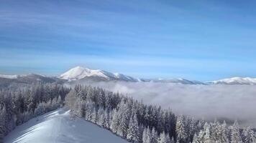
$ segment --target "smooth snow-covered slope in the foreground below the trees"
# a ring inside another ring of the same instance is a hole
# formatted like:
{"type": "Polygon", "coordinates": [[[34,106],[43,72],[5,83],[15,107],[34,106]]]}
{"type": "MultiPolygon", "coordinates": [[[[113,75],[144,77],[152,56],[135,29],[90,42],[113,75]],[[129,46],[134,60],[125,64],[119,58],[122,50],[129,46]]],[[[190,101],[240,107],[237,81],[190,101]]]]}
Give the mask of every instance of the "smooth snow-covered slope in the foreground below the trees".
{"type": "Polygon", "coordinates": [[[10,132],[4,138],[4,142],[127,143],[96,124],[83,119],[72,119],[69,111],[65,109],[58,109],[29,120],[10,132]]]}

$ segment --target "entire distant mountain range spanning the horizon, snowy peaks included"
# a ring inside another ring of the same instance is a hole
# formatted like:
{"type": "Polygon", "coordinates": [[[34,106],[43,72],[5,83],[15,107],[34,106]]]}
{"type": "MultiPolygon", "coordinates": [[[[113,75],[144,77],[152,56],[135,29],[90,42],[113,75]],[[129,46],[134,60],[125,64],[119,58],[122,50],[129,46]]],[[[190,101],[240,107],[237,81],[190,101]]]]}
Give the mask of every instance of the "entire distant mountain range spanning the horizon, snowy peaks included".
{"type": "Polygon", "coordinates": [[[124,74],[111,73],[100,69],[88,69],[82,66],[76,66],[73,69],[60,74],[58,77],[46,77],[39,74],[24,74],[24,75],[4,75],[0,74],[0,87],[9,87],[15,84],[32,84],[35,82],[45,83],[65,83],[65,82],[109,82],[109,81],[123,81],[123,82],[163,82],[175,84],[242,84],[242,85],[256,85],[256,79],[250,77],[232,77],[229,79],[220,79],[211,82],[199,82],[188,79],[137,79],[129,77],[124,74]]]}

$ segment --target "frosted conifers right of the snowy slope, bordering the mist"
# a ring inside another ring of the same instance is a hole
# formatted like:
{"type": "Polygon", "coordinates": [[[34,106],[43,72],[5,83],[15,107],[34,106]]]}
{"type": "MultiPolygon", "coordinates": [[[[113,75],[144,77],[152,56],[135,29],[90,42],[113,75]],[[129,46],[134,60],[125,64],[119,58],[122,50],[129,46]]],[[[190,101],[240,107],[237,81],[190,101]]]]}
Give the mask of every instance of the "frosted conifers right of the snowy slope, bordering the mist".
{"type": "Polygon", "coordinates": [[[205,122],[170,109],[146,105],[131,97],[96,87],[77,85],[66,96],[71,113],[109,129],[135,143],[255,143],[250,127],[240,129],[237,122],[205,122]]]}

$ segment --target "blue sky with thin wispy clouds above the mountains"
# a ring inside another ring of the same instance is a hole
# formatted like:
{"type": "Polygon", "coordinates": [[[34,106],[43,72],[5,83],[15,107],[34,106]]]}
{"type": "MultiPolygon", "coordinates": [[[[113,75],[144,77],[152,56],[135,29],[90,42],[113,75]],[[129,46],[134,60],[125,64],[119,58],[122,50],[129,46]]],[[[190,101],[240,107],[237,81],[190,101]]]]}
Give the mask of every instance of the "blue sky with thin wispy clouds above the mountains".
{"type": "Polygon", "coordinates": [[[256,3],[0,0],[0,73],[256,77],[256,3]]]}

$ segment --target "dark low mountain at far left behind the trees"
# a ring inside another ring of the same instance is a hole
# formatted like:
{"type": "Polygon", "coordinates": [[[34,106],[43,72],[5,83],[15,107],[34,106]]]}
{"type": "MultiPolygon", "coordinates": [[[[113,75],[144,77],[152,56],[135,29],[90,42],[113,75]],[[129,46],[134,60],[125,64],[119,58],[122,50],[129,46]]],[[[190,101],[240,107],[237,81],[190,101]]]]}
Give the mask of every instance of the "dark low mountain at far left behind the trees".
{"type": "Polygon", "coordinates": [[[0,74],[0,88],[3,87],[23,87],[27,84],[35,83],[64,83],[63,79],[56,77],[45,77],[39,74],[5,75],[0,74]]]}

